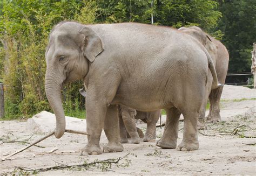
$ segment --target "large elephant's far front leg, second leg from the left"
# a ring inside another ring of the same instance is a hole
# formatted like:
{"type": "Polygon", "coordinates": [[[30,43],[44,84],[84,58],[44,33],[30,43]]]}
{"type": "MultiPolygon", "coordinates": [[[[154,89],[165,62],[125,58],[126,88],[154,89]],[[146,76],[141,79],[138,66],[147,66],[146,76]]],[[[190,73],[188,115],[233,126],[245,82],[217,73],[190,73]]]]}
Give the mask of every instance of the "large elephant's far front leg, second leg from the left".
{"type": "Polygon", "coordinates": [[[104,132],[109,143],[103,147],[103,152],[122,152],[124,151],[123,145],[120,143],[119,137],[119,124],[117,105],[110,105],[107,107],[106,118],[104,122],[104,132]]]}

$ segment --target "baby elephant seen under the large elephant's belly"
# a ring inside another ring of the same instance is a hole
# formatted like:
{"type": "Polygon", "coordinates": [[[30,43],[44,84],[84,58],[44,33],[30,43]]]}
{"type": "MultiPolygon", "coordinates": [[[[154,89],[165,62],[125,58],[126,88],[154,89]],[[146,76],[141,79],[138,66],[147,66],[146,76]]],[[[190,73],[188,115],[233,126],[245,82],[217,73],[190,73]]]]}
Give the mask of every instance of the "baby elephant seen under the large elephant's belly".
{"type": "Polygon", "coordinates": [[[161,110],[152,112],[136,111],[126,105],[118,105],[119,116],[119,130],[121,143],[127,143],[127,133],[131,137],[131,143],[138,144],[140,137],[137,132],[136,123],[134,119],[141,119],[147,123],[147,130],[144,135],[143,141],[150,142],[157,138],[156,135],[156,123],[161,115],[161,110]],[[126,132],[127,131],[127,132],[126,132]]]}

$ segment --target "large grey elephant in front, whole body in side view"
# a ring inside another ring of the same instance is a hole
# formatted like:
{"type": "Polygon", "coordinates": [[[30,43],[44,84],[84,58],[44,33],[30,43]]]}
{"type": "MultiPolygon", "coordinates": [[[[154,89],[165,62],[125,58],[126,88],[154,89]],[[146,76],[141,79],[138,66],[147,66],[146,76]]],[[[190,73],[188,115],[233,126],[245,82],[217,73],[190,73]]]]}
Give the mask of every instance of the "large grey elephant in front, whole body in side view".
{"type": "Polygon", "coordinates": [[[102,129],[109,140],[103,152],[124,150],[116,104],[140,111],[165,109],[164,134],[157,143],[164,149],[176,148],[183,113],[178,150],[198,149],[197,119],[208,68],[213,86],[218,87],[218,80],[210,55],[196,39],[168,27],[138,23],[62,22],[51,31],[45,56],[45,91],[56,115],[56,138],[65,132],[62,86],[82,79],[87,88],[88,133],[83,151],[102,153],[102,129]]]}

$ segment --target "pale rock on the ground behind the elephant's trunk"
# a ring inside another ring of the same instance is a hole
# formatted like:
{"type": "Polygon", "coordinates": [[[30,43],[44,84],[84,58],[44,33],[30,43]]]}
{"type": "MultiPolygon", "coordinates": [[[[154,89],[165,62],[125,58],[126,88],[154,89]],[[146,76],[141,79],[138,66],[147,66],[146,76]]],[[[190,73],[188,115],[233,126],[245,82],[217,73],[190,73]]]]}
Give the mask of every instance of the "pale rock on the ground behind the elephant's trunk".
{"type": "MultiPolygon", "coordinates": [[[[86,120],[66,116],[66,129],[86,131],[86,120]]],[[[35,133],[52,132],[56,128],[55,115],[51,112],[42,111],[29,118],[26,129],[35,133]]]]}

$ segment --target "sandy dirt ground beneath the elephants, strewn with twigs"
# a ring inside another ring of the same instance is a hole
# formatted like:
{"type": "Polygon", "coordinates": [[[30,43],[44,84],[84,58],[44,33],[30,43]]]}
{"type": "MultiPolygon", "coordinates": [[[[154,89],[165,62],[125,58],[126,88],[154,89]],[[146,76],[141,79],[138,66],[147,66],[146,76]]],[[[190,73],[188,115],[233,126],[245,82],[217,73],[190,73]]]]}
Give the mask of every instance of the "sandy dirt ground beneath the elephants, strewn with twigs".
{"type": "MultiPolygon", "coordinates": [[[[50,137],[32,146],[9,160],[0,161],[0,173],[24,173],[15,167],[32,169],[57,165],[78,165],[97,160],[122,158],[118,164],[94,164],[85,167],[72,167],[65,170],[50,170],[39,175],[169,175],[169,174],[248,174],[256,173],[256,90],[243,87],[225,86],[221,100],[219,123],[208,123],[205,131],[199,131],[199,150],[181,152],[176,149],[160,149],[156,142],[124,144],[124,151],[103,153],[98,156],[79,156],[79,150],[86,143],[84,135],[65,133],[60,139],[50,137]],[[254,98],[254,99],[253,99],[254,98]],[[208,136],[206,136],[208,135],[208,136]],[[252,145],[254,144],[254,145],[252,145]],[[58,150],[49,153],[53,148],[58,150]],[[129,154],[130,153],[130,154],[129,154]],[[107,170],[107,171],[106,171],[107,170]]],[[[137,124],[145,131],[144,123],[137,124]]],[[[183,122],[180,122],[178,143],[183,135],[183,122]]],[[[25,143],[3,143],[19,140],[31,143],[45,134],[26,131],[26,122],[0,121],[0,158],[6,152],[14,152],[28,145],[25,143]]],[[[157,137],[164,129],[157,128],[157,137]]],[[[100,145],[107,143],[105,135],[100,145]]],[[[114,161],[114,160],[112,160],[114,161]]],[[[30,172],[32,173],[32,172],[30,172]]]]}

